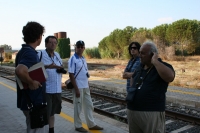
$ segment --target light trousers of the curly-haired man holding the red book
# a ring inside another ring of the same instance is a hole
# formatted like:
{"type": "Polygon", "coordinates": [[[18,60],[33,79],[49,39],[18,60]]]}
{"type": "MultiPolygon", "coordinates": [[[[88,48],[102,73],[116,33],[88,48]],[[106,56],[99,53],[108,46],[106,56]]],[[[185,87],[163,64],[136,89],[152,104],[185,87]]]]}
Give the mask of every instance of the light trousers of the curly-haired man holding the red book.
{"type": "Polygon", "coordinates": [[[23,111],[23,113],[26,117],[26,125],[27,125],[26,133],[48,133],[49,132],[49,125],[45,125],[42,128],[31,129],[29,111],[23,111]]]}

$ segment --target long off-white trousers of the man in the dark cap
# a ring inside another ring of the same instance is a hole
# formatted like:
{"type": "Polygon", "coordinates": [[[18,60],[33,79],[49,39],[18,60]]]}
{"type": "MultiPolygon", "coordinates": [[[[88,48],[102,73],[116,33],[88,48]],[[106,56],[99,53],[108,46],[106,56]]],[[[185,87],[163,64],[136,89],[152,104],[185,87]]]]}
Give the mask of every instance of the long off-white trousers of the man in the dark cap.
{"type": "Polygon", "coordinates": [[[80,117],[82,106],[83,106],[85,120],[86,120],[88,128],[96,126],[96,123],[94,122],[94,118],[92,114],[94,107],[93,107],[92,99],[90,96],[90,89],[89,88],[79,89],[79,92],[80,92],[80,97],[77,98],[76,92],[73,89],[74,126],[75,128],[82,127],[82,122],[81,122],[81,117],[80,117]]]}

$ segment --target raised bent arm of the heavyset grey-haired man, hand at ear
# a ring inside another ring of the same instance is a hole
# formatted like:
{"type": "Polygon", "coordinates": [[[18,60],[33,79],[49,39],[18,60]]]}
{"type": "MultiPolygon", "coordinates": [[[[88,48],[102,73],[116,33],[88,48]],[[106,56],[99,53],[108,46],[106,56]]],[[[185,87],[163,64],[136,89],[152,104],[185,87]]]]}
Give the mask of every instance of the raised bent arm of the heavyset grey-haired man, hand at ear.
{"type": "Polygon", "coordinates": [[[151,63],[155,66],[158,74],[165,82],[172,82],[174,80],[175,72],[165,64],[158,61],[158,54],[154,53],[151,63]]]}

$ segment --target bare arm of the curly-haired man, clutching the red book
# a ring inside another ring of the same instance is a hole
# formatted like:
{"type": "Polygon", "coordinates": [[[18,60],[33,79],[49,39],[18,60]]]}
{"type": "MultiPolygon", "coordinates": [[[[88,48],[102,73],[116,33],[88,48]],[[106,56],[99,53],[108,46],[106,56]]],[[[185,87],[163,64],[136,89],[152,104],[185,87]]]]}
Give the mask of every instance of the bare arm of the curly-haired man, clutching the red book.
{"type": "Polygon", "coordinates": [[[36,90],[42,85],[35,80],[32,80],[28,74],[28,68],[25,65],[19,64],[15,69],[15,74],[24,83],[28,84],[29,89],[36,90]]]}

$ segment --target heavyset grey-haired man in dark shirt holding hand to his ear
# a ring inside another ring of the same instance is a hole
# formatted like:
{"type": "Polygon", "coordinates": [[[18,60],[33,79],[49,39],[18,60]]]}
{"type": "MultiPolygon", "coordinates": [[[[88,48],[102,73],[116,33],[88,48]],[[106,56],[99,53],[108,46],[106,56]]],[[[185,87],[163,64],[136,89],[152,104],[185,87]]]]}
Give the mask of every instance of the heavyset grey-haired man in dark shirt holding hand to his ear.
{"type": "Polygon", "coordinates": [[[158,58],[153,42],[140,48],[141,66],[133,74],[132,100],[127,102],[130,133],[165,132],[165,93],[175,78],[173,67],[158,58]]]}

